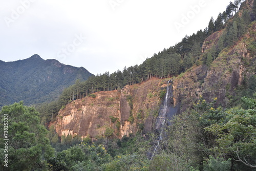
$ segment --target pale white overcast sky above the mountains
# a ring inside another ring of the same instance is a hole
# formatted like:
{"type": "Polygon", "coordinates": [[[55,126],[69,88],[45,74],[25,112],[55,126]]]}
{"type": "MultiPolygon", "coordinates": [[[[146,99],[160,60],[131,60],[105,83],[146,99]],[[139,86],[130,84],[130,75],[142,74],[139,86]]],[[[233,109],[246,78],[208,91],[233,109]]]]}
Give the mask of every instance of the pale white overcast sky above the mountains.
{"type": "Polygon", "coordinates": [[[140,65],[208,26],[230,0],[1,0],[0,60],[34,54],[92,74],[140,65]]]}

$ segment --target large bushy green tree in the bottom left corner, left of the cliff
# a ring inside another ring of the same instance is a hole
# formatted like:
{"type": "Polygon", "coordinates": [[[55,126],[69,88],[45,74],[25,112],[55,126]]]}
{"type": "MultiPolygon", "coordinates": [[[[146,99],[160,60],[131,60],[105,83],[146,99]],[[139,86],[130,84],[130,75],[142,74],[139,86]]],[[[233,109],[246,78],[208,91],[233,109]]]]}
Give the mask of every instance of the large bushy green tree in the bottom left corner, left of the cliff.
{"type": "MultiPolygon", "coordinates": [[[[46,138],[48,131],[40,124],[39,113],[23,102],[4,106],[1,115],[8,114],[8,162],[10,170],[46,169],[46,160],[53,156],[53,148],[46,138]]],[[[4,123],[4,117],[2,117],[4,123]]],[[[6,123],[6,122],[5,122],[6,123]]],[[[4,124],[1,124],[4,130],[4,124]]],[[[3,138],[1,138],[3,142],[3,138]]],[[[3,143],[0,146],[3,149],[3,143]]],[[[4,150],[0,151],[4,156],[4,150]]],[[[1,168],[4,166],[1,165],[1,168]]]]}

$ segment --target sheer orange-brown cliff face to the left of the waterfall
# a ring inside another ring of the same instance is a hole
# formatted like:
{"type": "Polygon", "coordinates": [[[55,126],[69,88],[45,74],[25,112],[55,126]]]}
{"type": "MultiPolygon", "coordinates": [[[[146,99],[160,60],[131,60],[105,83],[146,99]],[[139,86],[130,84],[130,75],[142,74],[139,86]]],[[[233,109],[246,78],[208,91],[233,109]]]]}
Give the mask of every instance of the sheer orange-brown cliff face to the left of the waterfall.
{"type": "Polygon", "coordinates": [[[75,100],[60,110],[54,123],[56,132],[59,136],[92,138],[106,136],[106,129],[113,130],[111,137],[118,138],[137,131],[150,132],[165,87],[165,80],[152,79],[122,90],[98,92],[95,98],[75,100]]]}

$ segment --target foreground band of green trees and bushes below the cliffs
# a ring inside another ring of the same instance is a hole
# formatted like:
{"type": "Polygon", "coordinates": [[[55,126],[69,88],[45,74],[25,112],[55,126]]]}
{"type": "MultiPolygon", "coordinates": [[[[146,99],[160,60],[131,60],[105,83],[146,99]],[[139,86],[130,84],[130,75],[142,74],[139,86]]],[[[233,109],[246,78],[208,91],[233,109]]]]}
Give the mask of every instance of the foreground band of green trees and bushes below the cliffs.
{"type": "MultiPolygon", "coordinates": [[[[40,125],[34,108],[14,103],[1,112],[11,118],[10,164],[5,170],[255,170],[253,96],[242,98],[243,108],[231,109],[216,108],[216,98],[206,102],[200,97],[193,110],[176,115],[166,127],[161,150],[154,158],[152,147],[157,142],[153,133],[147,138],[137,132],[110,139],[106,131],[97,140],[63,136],[59,142],[53,126],[48,132],[40,125]]],[[[0,153],[3,156],[3,143],[0,153]]]]}

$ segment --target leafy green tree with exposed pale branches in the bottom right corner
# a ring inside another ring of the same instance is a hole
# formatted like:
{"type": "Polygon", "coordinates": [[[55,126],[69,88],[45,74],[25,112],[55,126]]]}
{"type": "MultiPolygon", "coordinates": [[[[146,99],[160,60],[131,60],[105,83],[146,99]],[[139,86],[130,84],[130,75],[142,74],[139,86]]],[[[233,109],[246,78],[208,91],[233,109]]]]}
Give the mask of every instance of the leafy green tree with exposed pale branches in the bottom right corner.
{"type": "Polygon", "coordinates": [[[229,121],[225,124],[212,124],[206,127],[206,131],[217,136],[218,153],[231,154],[235,161],[246,166],[256,167],[256,110],[229,111],[229,121]]]}

